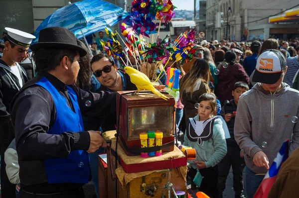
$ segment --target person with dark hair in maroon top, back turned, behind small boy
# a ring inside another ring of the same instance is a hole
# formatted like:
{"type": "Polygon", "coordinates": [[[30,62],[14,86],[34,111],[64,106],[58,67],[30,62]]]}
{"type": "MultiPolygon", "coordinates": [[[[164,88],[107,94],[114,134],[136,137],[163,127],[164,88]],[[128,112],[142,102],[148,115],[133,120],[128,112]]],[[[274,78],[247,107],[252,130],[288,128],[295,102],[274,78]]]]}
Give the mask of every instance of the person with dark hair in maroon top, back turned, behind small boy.
{"type": "Polygon", "coordinates": [[[224,104],[225,100],[233,99],[232,91],[234,89],[235,83],[238,81],[244,81],[249,84],[249,77],[243,66],[239,63],[236,63],[236,53],[233,51],[227,51],[224,58],[228,66],[222,66],[219,68],[219,84],[217,90],[215,91],[215,94],[222,105],[224,104]]]}

